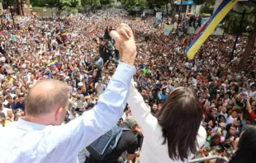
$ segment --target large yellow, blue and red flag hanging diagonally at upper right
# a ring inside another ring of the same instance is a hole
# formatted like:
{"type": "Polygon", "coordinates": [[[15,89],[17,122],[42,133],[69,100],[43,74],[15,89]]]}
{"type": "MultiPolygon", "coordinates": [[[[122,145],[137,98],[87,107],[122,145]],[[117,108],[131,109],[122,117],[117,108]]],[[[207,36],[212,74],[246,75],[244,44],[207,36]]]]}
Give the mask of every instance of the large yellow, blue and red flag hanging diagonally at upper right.
{"type": "Polygon", "coordinates": [[[194,58],[197,50],[200,49],[201,44],[203,44],[206,39],[211,35],[212,31],[216,29],[220,21],[225,17],[225,15],[230,12],[230,10],[235,6],[238,0],[223,0],[220,6],[213,13],[211,18],[206,22],[205,26],[201,27],[201,30],[197,33],[192,44],[186,49],[187,57],[194,58]]]}

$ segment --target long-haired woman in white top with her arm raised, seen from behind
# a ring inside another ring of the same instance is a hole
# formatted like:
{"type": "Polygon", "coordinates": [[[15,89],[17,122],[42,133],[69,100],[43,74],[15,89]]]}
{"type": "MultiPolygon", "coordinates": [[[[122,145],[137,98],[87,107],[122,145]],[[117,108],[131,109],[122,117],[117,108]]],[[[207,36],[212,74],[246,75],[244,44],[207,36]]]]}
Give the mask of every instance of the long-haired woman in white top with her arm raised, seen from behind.
{"type": "Polygon", "coordinates": [[[140,163],[188,162],[206,142],[201,105],[190,88],[175,89],[157,118],[134,84],[130,84],[128,104],[144,135],[140,163]]]}

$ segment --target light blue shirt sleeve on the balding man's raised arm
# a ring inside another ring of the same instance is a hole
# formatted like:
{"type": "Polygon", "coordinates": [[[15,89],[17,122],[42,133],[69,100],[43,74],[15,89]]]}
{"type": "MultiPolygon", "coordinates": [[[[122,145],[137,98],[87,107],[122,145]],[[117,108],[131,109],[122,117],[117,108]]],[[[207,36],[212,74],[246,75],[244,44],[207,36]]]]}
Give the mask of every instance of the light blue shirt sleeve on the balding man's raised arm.
{"type": "Polygon", "coordinates": [[[130,79],[134,73],[134,67],[119,63],[106,91],[93,109],[67,124],[49,127],[40,145],[45,147],[44,150],[52,150],[50,158],[67,162],[77,156],[78,151],[114,127],[126,107],[130,79]]]}

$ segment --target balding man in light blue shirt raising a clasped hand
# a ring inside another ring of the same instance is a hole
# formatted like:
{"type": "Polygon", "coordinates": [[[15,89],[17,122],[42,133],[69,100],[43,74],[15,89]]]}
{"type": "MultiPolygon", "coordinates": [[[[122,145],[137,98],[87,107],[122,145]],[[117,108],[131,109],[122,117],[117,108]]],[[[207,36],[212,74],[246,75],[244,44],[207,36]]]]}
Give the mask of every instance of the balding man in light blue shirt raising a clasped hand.
{"type": "Polygon", "coordinates": [[[121,24],[111,36],[120,51],[121,63],[97,105],[62,124],[69,108],[69,86],[56,80],[36,82],[26,96],[26,117],[0,129],[0,161],[78,162],[79,151],[116,125],[126,107],[135,73],[136,48],[127,25],[121,24]]]}

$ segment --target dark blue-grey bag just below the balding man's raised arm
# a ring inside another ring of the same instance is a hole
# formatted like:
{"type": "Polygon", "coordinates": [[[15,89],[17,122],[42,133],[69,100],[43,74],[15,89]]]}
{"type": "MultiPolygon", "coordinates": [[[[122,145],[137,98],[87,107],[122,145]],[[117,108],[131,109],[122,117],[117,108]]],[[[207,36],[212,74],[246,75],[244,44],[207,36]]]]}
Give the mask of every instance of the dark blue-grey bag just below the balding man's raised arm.
{"type": "Polygon", "coordinates": [[[110,131],[101,137],[98,137],[97,140],[86,147],[86,149],[90,152],[90,156],[97,161],[102,161],[107,154],[111,153],[111,151],[116,148],[123,131],[130,131],[130,128],[121,128],[116,125],[110,131]]]}

